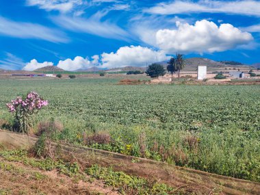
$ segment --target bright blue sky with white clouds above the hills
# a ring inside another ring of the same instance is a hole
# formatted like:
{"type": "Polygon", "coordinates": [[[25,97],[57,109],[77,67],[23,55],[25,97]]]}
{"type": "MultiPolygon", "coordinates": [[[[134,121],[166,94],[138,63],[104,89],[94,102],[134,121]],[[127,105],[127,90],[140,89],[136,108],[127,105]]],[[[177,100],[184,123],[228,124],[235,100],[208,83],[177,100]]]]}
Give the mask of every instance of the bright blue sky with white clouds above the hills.
{"type": "Polygon", "coordinates": [[[1,0],[0,68],[260,62],[260,1],[1,0]]]}

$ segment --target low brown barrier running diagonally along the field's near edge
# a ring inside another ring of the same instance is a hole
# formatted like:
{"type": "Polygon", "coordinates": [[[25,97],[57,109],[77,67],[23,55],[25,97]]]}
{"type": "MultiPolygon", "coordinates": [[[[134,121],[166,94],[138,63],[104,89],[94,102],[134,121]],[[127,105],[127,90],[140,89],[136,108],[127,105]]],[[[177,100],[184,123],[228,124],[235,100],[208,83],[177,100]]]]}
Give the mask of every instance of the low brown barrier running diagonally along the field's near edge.
{"type": "MultiPolygon", "coordinates": [[[[38,140],[36,137],[21,133],[0,130],[0,143],[12,147],[29,148],[38,140]]],[[[57,143],[52,142],[53,146],[57,143]]],[[[260,194],[260,183],[210,174],[190,168],[172,166],[159,161],[120,155],[71,144],[59,144],[62,153],[73,157],[85,166],[99,164],[112,166],[127,174],[156,179],[172,187],[185,188],[196,194],[213,194],[220,190],[221,194],[260,194]]]]}

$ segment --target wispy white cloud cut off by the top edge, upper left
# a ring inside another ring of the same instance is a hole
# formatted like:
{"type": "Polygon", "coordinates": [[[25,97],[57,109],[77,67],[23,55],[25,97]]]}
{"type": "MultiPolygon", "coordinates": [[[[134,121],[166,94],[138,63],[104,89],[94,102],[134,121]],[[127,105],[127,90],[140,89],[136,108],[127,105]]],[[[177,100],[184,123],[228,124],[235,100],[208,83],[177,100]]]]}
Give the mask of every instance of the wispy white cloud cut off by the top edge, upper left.
{"type": "Polygon", "coordinates": [[[81,0],[27,0],[27,5],[38,6],[42,10],[58,10],[68,12],[76,5],[81,5],[81,0]]]}

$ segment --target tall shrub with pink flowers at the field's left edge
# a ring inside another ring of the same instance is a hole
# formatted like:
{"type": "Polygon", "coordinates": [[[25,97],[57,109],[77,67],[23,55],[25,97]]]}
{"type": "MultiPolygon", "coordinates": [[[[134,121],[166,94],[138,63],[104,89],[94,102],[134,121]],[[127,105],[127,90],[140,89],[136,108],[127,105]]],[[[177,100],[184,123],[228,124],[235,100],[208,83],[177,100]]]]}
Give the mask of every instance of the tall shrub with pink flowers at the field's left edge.
{"type": "Polygon", "coordinates": [[[24,99],[17,97],[8,103],[6,106],[9,112],[14,113],[14,130],[28,133],[33,124],[31,116],[46,105],[48,101],[40,98],[36,92],[29,92],[24,99]]]}

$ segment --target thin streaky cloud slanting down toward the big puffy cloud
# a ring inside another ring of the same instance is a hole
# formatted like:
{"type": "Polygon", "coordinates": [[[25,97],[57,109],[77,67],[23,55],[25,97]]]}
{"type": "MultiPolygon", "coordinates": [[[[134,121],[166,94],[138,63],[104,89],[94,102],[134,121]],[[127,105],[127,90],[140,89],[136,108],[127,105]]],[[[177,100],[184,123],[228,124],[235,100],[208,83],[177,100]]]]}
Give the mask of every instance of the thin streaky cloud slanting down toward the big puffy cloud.
{"type": "Polygon", "coordinates": [[[108,21],[99,21],[99,17],[96,15],[93,18],[57,16],[53,18],[53,21],[70,31],[93,34],[103,38],[127,40],[129,37],[127,31],[108,21]]]}

